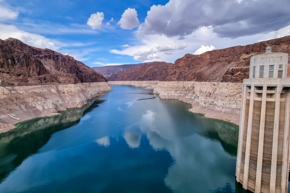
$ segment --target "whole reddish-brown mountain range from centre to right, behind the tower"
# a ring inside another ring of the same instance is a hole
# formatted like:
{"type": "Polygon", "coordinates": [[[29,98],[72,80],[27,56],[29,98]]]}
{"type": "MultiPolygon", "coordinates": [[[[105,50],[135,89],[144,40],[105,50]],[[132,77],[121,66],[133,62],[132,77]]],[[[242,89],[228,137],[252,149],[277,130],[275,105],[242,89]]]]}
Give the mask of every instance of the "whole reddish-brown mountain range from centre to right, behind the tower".
{"type": "Polygon", "coordinates": [[[186,54],[171,67],[155,65],[152,70],[151,66],[142,65],[122,71],[108,80],[148,80],[148,77],[155,77],[154,80],[161,81],[242,82],[244,78],[249,78],[251,56],[264,53],[267,46],[272,47],[272,52],[289,54],[290,36],[217,49],[200,55],[186,54]],[[153,73],[158,73],[158,78],[153,73]]]}

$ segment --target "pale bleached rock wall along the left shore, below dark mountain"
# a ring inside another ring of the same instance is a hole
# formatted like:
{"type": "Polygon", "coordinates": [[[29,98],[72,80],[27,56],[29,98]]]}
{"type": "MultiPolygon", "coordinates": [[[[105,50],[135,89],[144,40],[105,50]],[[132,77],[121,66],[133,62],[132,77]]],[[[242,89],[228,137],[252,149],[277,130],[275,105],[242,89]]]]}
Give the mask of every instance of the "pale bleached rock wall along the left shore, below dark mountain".
{"type": "Polygon", "coordinates": [[[66,108],[81,107],[104,91],[112,91],[108,82],[0,86],[0,133],[14,128],[14,124],[21,121],[57,115],[57,111],[66,108]],[[21,120],[10,118],[10,115],[16,115],[21,120]]]}

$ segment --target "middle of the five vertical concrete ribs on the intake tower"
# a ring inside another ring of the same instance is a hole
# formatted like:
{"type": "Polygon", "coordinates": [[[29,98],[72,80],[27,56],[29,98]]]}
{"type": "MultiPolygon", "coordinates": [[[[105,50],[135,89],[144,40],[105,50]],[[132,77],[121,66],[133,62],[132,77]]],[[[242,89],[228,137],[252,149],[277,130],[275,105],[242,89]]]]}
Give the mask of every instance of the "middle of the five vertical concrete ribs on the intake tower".
{"type": "Polygon", "coordinates": [[[263,85],[263,93],[262,93],[262,107],[261,107],[261,118],[260,118],[260,131],[259,131],[255,193],[261,192],[266,100],[267,100],[267,84],[264,84],[263,85]]]}

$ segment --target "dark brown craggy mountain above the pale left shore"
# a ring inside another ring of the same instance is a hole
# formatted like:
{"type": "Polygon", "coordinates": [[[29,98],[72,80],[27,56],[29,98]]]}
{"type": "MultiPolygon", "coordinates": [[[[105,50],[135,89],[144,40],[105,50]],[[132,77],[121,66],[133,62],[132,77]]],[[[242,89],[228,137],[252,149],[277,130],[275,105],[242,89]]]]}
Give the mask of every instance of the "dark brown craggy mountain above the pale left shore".
{"type": "Polygon", "coordinates": [[[106,82],[103,75],[71,56],[0,39],[0,83],[4,85],[106,82]]]}

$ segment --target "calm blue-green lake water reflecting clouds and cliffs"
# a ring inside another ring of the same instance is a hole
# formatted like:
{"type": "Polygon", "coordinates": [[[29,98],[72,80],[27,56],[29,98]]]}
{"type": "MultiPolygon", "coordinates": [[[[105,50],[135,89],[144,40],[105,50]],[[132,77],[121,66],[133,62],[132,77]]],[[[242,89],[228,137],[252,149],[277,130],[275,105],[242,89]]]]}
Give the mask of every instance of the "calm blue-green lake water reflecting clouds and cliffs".
{"type": "Polygon", "coordinates": [[[238,126],[131,86],[0,135],[0,192],[244,192],[238,126]]]}

